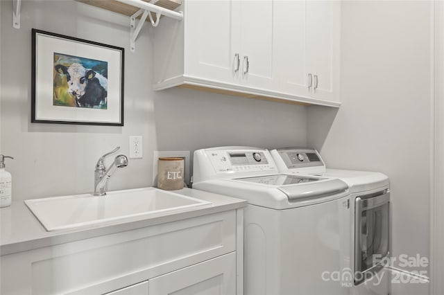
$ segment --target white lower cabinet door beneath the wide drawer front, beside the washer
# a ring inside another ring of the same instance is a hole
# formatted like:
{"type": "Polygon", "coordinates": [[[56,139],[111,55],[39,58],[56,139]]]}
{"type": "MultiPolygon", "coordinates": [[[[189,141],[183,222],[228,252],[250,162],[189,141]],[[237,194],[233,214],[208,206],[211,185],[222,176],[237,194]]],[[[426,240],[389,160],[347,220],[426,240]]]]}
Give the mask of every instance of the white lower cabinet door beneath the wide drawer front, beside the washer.
{"type": "Polygon", "coordinates": [[[148,282],[150,295],[236,294],[236,253],[185,267],[148,282]]]}

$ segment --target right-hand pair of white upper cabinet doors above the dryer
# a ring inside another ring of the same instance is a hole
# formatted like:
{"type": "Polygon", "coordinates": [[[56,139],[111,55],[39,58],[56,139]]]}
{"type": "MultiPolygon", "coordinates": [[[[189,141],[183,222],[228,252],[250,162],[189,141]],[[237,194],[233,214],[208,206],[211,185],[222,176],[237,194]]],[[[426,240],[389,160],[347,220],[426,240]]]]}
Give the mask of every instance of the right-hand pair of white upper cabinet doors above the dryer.
{"type": "Polygon", "coordinates": [[[275,69],[282,91],[340,101],[340,14],[340,1],[274,1],[275,69]]]}

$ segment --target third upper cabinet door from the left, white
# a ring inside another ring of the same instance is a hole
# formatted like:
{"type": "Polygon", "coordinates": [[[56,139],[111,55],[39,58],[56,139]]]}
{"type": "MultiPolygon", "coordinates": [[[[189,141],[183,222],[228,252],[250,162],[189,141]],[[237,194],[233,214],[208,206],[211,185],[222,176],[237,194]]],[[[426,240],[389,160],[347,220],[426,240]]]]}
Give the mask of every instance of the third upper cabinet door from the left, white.
{"type": "Polygon", "coordinates": [[[308,96],[305,1],[273,1],[273,37],[278,89],[308,96]]]}

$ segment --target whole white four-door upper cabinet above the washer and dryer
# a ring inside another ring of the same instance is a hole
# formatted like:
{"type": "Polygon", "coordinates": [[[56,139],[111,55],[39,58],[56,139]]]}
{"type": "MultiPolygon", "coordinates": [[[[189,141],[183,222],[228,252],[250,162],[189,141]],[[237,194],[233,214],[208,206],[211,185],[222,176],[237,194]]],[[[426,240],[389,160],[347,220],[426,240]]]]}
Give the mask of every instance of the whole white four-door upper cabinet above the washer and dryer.
{"type": "Polygon", "coordinates": [[[339,1],[189,0],[155,29],[155,90],[339,107],[339,1]]]}

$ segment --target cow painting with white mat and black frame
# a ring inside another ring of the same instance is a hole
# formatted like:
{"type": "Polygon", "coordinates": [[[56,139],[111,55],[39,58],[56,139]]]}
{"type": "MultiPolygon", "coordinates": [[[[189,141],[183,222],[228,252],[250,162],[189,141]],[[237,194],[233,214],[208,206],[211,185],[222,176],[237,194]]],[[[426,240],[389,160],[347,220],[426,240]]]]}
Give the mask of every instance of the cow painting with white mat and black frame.
{"type": "Polygon", "coordinates": [[[36,29],[32,46],[32,123],[123,126],[123,48],[36,29]]]}

